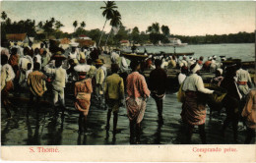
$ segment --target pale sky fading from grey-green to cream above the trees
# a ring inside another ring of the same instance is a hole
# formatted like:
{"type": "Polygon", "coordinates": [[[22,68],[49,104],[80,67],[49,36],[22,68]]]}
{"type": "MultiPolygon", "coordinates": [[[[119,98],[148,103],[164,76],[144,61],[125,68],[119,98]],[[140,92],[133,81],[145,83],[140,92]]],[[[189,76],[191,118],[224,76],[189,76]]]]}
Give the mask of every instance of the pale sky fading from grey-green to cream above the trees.
{"type": "MultiPolygon", "coordinates": [[[[256,2],[246,1],[116,1],[123,26],[139,27],[145,31],[153,23],[168,26],[171,34],[205,35],[228,34],[255,30],[256,2]]],[[[73,22],[86,22],[85,29],[102,28],[102,1],[2,1],[12,21],[45,22],[54,17],[73,32],[73,22]]],[[[107,22],[105,31],[110,30],[107,22]]]]}

